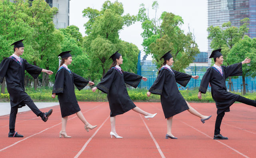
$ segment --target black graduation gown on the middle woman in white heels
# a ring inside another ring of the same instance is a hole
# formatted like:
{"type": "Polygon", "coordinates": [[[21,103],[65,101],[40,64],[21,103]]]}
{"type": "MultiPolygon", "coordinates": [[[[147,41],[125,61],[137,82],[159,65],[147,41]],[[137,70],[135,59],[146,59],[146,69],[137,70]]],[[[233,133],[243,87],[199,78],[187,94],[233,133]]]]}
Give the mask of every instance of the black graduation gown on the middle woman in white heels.
{"type": "Polygon", "coordinates": [[[136,88],[142,76],[130,72],[121,72],[113,67],[103,76],[102,81],[96,86],[102,92],[108,94],[110,117],[123,114],[136,105],[130,99],[126,84],[136,88]]]}

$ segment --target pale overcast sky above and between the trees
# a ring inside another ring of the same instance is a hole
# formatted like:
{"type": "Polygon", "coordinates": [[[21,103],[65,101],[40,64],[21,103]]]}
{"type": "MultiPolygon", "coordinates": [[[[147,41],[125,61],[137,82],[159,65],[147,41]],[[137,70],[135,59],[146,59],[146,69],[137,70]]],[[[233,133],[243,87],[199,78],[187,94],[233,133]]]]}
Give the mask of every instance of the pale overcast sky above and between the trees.
{"type": "MultiPolygon", "coordinates": [[[[85,36],[84,23],[88,21],[87,18],[82,17],[82,11],[87,8],[94,8],[101,10],[103,2],[106,0],[70,0],[70,25],[79,27],[80,32],[85,36]]],[[[110,0],[114,2],[115,0],[110,0]]],[[[145,4],[149,8],[150,18],[154,18],[154,10],[152,10],[153,0],[118,0],[124,6],[124,14],[136,15],[140,8],[140,4],[145,4]]],[[[188,25],[190,31],[194,30],[196,43],[201,52],[207,51],[207,0],[158,0],[159,8],[158,15],[164,11],[172,12],[179,15],[184,20],[182,29],[188,32],[188,25]]],[[[120,31],[120,39],[135,44],[138,49],[142,50],[143,39],[141,23],[136,22],[129,27],[124,27],[120,31]]]]}

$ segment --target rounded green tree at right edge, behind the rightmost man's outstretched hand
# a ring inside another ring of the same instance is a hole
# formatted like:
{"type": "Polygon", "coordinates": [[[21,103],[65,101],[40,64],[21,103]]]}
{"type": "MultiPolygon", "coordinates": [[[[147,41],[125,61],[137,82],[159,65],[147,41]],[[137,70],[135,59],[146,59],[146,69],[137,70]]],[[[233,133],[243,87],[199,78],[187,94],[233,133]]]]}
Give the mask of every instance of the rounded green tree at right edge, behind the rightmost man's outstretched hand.
{"type": "Polygon", "coordinates": [[[250,64],[243,64],[242,70],[242,82],[243,82],[243,95],[246,94],[246,76],[256,76],[256,38],[251,39],[247,35],[244,35],[243,39],[240,39],[234,44],[232,49],[227,55],[227,62],[235,64],[243,61],[246,57],[251,59],[250,64]]]}

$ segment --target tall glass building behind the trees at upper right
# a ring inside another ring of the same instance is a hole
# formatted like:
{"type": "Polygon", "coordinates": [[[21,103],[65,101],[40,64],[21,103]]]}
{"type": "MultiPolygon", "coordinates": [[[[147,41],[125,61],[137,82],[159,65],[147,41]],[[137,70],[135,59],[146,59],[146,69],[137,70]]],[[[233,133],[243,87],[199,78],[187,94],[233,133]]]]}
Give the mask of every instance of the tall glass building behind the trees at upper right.
{"type": "MultiPolygon", "coordinates": [[[[222,26],[230,21],[240,27],[240,20],[249,18],[249,31],[246,35],[256,37],[256,0],[208,0],[208,27],[222,26]]],[[[208,57],[212,53],[211,40],[208,39],[208,57]]],[[[210,66],[211,60],[208,60],[210,66]]]]}

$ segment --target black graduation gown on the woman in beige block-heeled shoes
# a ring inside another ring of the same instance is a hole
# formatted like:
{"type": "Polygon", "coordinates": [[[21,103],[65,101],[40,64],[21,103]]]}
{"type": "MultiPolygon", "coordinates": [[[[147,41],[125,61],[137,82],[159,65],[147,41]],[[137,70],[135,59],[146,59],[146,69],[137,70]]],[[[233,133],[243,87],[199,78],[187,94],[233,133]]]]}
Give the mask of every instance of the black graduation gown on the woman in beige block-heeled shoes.
{"type": "Polygon", "coordinates": [[[88,83],[89,81],[83,77],[62,66],[60,67],[55,76],[52,94],[56,93],[56,96],[58,96],[62,117],[81,110],[76,100],[74,84],[78,90],[82,90],[88,83]]]}

